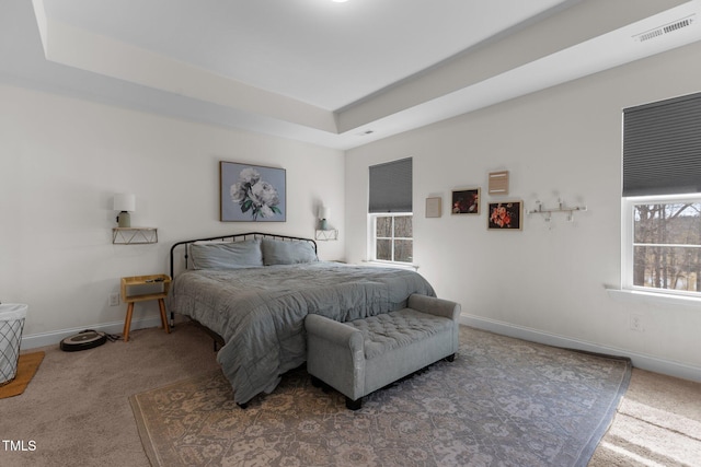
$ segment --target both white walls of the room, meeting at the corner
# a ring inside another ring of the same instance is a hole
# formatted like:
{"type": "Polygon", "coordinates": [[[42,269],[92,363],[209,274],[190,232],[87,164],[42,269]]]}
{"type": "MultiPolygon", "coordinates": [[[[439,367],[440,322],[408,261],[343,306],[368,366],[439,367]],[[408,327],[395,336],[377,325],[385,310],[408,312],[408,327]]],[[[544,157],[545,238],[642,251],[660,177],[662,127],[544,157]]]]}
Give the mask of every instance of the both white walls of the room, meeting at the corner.
{"type": "MultiPolygon", "coordinates": [[[[635,364],[701,380],[701,310],[621,303],[620,124],[623,107],[701,91],[692,45],[348,151],[296,143],[0,85],[0,301],[30,305],[25,342],[73,330],[119,331],[125,305],[107,294],[123,276],[165,272],[172,243],[267,230],[312,236],[324,200],[341,231],[322,259],[365,259],[368,165],[414,157],[415,257],[463,322],[573,347],[623,353],[635,364]],[[287,170],[286,223],[218,221],[220,160],[287,170]],[[345,162],[344,162],[345,161],[345,162]],[[512,195],[532,209],[584,203],[552,230],[527,217],[522,232],[487,232],[486,175],[510,172],[512,195]],[[479,218],[424,218],[428,196],[480,186],[479,218]],[[112,196],[137,196],[134,225],[154,245],[112,245],[112,196]],[[345,210],[345,217],[344,217],[345,210]],[[631,313],[644,332],[629,329],[631,313]]],[[[156,324],[153,304],[136,326],[156,324]]],[[[58,340],[57,340],[58,339],[58,340]]],[[[26,346],[25,346],[26,347],[26,346]]]]}

